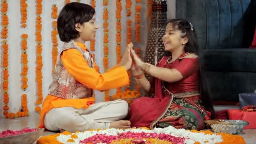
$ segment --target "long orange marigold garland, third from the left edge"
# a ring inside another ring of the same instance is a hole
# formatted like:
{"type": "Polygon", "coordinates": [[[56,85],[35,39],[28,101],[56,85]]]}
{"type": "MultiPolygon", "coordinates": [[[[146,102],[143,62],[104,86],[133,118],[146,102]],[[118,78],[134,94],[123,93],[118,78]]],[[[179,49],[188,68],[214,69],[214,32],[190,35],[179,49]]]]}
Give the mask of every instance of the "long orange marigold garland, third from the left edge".
{"type": "MultiPolygon", "coordinates": [[[[36,101],[36,105],[40,105],[43,102],[43,84],[42,84],[42,17],[40,16],[42,13],[42,0],[37,0],[37,20],[36,20],[36,42],[37,42],[37,57],[36,57],[36,82],[37,82],[37,96],[38,99],[36,101]]],[[[35,111],[40,113],[41,107],[35,107],[35,111]]]]}

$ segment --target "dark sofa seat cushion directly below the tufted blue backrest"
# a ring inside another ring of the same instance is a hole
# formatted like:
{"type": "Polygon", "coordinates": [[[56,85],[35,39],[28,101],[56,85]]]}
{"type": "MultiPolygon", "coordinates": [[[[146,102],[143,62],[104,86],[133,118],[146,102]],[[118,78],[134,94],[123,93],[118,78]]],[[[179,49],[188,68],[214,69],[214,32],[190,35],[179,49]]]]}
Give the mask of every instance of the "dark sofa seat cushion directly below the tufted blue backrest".
{"type": "Polygon", "coordinates": [[[256,72],[255,49],[206,49],[201,58],[205,71],[256,72]]]}

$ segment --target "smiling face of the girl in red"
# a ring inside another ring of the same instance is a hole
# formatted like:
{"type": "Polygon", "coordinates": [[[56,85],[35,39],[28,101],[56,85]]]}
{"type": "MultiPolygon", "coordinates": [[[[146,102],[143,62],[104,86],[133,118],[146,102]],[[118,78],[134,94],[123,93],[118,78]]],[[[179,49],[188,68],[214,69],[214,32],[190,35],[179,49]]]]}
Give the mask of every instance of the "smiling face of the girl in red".
{"type": "Polygon", "coordinates": [[[173,29],[173,24],[167,24],[165,34],[163,35],[163,44],[165,51],[174,51],[180,48],[184,48],[187,43],[187,36],[182,37],[180,30],[173,29]]]}

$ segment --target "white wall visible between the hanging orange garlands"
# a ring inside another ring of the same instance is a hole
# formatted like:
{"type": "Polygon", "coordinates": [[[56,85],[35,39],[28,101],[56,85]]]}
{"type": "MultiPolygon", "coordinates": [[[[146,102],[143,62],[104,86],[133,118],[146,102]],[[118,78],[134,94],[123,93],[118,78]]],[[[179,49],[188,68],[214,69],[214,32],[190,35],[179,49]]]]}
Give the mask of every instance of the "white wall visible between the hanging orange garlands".
{"type": "MultiPolygon", "coordinates": [[[[75,0],[72,0],[75,1],[75,0]]],[[[175,17],[175,0],[167,0],[168,1],[168,19],[175,17]]],[[[90,3],[91,0],[81,0],[81,3],[90,3]]],[[[56,4],[58,7],[58,13],[61,11],[61,8],[64,6],[65,0],[43,0],[43,13],[42,16],[42,24],[43,24],[43,96],[47,95],[48,85],[51,83],[52,76],[52,42],[51,42],[51,23],[53,19],[51,18],[51,8],[53,4],[56,4]]],[[[132,0],[132,16],[131,19],[133,21],[133,41],[135,40],[134,35],[134,11],[135,11],[135,0],[132,0]]],[[[28,66],[29,71],[27,78],[28,81],[28,88],[24,94],[27,94],[28,100],[28,109],[29,111],[33,111],[35,109],[35,101],[36,97],[36,83],[35,83],[35,58],[36,58],[36,43],[35,43],[35,18],[36,18],[36,6],[35,0],[27,0],[27,28],[21,29],[20,28],[20,0],[8,0],[8,18],[9,18],[9,25],[8,25],[8,45],[9,45],[9,103],[8,106],[10,108],[9,112],[17,112],[21,107],[21,95],[23,91],[21,90],[21,34],[27,33],[27,54],[28,54],[28,66]]],[[[109,0],[109,55],[111,55],[109,59],[110,67],[116,64],[116,40],[115,40],[115,9],[116,4],[115,0],[109,0]]],[[[122,0],[122,48],[125,48],[126,45],[126,9],[125,9],[125,0],[122,0]]],[[[96,62],[100,67],[101,72],[104,72],[103,68],[103,0],[96,0],[96,23],[99,24],[99,29],[96,32],[96,62]]],[[[144,51],[146,44],[147,44],[147,0],[141,0],[141,50],[144,51]]],[[[2,17],[0,18],[1,21],[2,17]]],[[[1,39],[2,41],[2,39],[1,39]]],[[[59,48],[62,46],[62,42],[59,41],[59,48]]],[[[88,48],[90,47],[90,43],[86,43],[88,48]]],[[[0,49],[0,117],[3,117],[3,89],[2,89],[2,82],[3,82],[3,67],[2,67],[2,59],[3,59],[3,49],[0,49]]],[[[115,90],[111,90],[110,94],[114,94],[115,90]]],[[[97,101],[102,101],[104,99],[104,93],[96,92],[96,97],[98,98],[97,101]]]]}

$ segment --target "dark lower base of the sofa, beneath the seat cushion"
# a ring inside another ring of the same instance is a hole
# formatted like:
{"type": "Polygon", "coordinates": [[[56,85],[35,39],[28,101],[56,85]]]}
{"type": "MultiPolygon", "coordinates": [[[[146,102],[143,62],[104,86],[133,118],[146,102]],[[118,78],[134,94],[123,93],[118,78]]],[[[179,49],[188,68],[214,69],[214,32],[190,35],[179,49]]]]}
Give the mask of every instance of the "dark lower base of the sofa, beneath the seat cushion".
{"type": "Polygon", "coordinates": [[[256,88],[255,72],[205,72],[209,96],[213,101],[239,101],[239,93],[256,88]]]}

